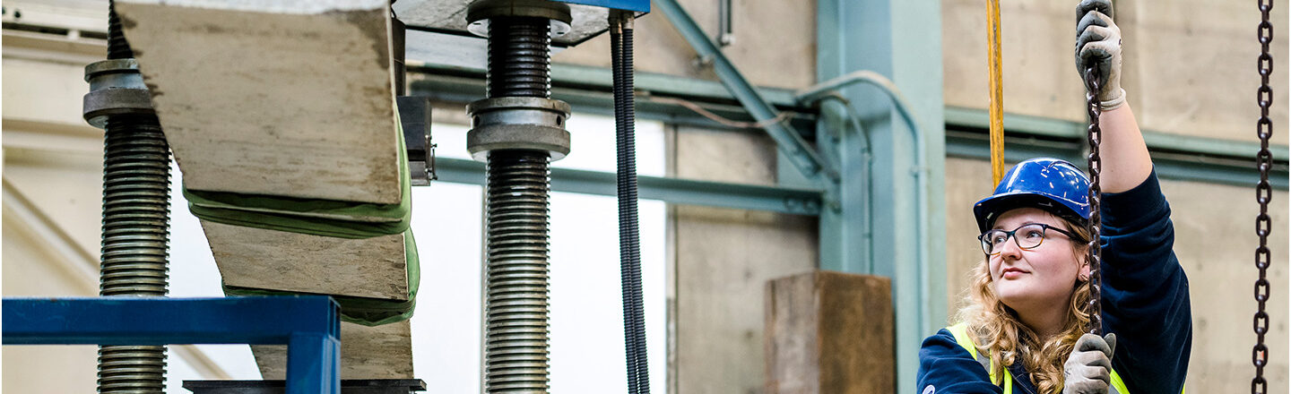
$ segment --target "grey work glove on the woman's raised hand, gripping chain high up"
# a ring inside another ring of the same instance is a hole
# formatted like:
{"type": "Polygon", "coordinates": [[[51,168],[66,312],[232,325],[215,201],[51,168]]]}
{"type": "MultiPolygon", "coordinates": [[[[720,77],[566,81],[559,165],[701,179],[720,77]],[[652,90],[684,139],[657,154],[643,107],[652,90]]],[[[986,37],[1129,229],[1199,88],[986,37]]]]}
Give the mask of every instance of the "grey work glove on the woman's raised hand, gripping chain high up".
{"type": "Polygon", "coordinates": [[[1121,28],[1112,21],[1112,0],[1081,0],[1075,6],[1075,71],[1084,80],[1084,68],[1099,70],[1099,102],[1103,109],[1121,107],[1126,91],[1121,89],[1121,28]]]}

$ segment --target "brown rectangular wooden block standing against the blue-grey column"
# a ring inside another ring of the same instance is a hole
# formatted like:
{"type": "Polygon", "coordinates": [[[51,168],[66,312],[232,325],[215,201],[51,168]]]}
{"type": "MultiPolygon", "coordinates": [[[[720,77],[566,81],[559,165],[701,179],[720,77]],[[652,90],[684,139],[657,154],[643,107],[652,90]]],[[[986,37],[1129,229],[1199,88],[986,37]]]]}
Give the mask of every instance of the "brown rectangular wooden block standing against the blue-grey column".
{"type": "Polygon", "coordinates": [[[888,278],[813,272],[767,282],[766,393],[896,389],[888,278]]]}

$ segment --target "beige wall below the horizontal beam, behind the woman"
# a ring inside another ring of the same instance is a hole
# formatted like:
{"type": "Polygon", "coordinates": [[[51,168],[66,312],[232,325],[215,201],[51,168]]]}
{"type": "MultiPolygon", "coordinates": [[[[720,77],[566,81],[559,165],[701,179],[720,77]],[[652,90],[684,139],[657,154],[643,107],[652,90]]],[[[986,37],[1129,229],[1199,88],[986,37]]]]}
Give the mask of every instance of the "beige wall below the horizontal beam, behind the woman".
{"type": "MultiPolygon", "coordinates": [[[[980,160],[946,160],[946,286],[951,318],[963,305],[968,272],[981,264],[977,225],[972,203],[986,196],[990,164],[980,160]]],[[[1163,180],[1162,191],[1175,224],[1175,254],[1189,278],[1193,306],[1193,353],[1188,370],[1189,393],[1242,393],[1250,389],[1251,346],[1255,333],[1252,286],[1255,189],[1197,182],[1163,180]]],[[[1287,193],[1273,193],[1273,283],[1269,363],[1265,368],[1269,393],[1287,390],[1287,193]]],[[[1168,330],[1168,328],[1167,328],[1168,330]]]]}

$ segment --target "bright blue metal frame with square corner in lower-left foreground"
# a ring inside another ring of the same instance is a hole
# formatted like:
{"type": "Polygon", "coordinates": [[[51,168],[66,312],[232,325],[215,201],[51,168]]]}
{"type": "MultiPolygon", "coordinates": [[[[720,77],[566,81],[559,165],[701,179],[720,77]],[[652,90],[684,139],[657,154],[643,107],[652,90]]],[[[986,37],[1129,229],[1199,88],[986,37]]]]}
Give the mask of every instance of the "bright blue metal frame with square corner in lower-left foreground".
{"type": "Polygon", "coordinates": [[[4,299],[5,345],[288,345],[288,394],[341,393],[340,306],[327,296],[4,299]]]}

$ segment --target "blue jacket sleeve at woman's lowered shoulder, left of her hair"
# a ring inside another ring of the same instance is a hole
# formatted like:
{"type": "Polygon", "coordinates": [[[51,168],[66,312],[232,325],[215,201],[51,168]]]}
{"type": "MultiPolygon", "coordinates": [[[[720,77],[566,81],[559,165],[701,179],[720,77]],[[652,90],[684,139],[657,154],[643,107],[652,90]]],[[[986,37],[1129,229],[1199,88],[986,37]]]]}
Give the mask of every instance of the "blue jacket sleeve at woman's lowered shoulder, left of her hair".
{"type": "Polygon", "coordinates": [[[917,394],[1001,394],[990,375],[942,328],[919,348],[917,394]]]}

